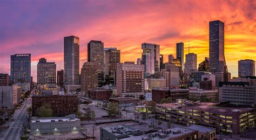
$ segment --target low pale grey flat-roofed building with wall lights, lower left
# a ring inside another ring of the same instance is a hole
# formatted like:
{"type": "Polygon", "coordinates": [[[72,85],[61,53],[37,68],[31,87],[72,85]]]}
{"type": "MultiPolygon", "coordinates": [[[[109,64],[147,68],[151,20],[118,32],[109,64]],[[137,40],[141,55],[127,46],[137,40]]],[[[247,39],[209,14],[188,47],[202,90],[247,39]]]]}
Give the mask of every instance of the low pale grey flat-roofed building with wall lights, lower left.
{"type": "Polygon", "coordinates": [[[30,122],[30,134],[52,134],[59,132],[79,132],[80,119],[76,115],[65,117],[32,117],[30,122]]]}

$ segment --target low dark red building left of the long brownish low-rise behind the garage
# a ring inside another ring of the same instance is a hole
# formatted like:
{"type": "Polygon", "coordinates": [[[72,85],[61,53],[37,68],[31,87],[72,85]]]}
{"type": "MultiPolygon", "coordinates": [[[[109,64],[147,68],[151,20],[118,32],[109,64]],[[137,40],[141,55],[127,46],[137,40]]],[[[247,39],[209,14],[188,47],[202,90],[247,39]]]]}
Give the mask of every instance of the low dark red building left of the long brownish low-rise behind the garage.
{"type": "Polygon", "coordinates": [[[155,88],[152,89],[152,100],[160,103],[161,99],[171,98],[172,102],[176,99],[188,99],[189,89],[155,88]]]}

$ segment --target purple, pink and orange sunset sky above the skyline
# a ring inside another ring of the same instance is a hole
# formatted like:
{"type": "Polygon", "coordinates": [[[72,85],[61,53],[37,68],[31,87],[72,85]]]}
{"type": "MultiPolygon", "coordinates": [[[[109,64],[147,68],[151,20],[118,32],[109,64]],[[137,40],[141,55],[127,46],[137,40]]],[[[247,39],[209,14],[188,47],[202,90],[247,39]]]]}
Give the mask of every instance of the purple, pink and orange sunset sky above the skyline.
{"type": "MultiPolygon", "coordinates": [[[[225,58],[231,76],[238,60],[256,60],[256,1],[1,1],[0,73],[10,74],[10,55],[31,53],[31,76],[46,58],[63,69],[64,37],[80,38],[80,68],[87,61],[87,43],[101,40],[117,47],[121,61],[141,58],[142,43],[160,45],[167,62],[184,43],[184,57],[208,57],[209,22],[225,23],[225,58]]],[[[184,58],[185,59],[185,58],[184,58]]]]}

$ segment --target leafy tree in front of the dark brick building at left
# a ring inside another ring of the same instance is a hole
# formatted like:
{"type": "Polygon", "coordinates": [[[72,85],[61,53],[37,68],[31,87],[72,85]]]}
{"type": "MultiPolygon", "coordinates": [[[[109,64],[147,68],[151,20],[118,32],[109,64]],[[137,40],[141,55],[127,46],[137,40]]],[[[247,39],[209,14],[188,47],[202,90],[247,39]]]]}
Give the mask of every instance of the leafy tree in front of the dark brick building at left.
{"type": "Polygon", "coordinates": [[[36,116],[38,117],[51,117],[52,116],[52,109],[51,105],[45,103],[43,106],[36,110],[36,116]]]}

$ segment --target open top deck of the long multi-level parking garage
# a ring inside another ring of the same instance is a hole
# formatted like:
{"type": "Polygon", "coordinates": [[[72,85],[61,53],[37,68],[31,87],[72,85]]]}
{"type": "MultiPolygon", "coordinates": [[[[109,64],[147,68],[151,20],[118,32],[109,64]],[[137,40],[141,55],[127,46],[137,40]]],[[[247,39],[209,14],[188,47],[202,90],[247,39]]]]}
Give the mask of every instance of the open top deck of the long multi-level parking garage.
{"type": "Polygon", "coordinates": [[[240,114],[246,113],[247,111],[254,110],[255,108],[235,108],[232,107],[217,107],[218,103],[205,103],[201,102],[200,104],[194,105],[194,106],[182,106],[181,108],[176,108],[178,105],[175,103],[164,103],[164,104],[157,104],[157,106],[166,107],[166,108],[172,108],[180,111],[185,111],[186,109],[193,109],[193,110],[202,110],[206,112],[211,112],[215,114],[232,114],[232,112],[240,112],[240,114]]]}

